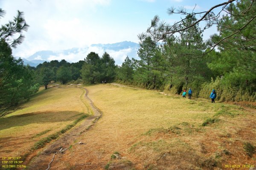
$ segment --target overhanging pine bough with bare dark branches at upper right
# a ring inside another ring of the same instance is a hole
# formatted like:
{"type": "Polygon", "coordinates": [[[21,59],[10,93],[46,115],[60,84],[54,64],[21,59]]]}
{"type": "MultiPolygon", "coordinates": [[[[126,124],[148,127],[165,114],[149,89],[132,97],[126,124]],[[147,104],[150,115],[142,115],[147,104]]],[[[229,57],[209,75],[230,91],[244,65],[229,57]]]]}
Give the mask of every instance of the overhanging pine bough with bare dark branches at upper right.
{"type": "MultiPolygon", "coordinates": [[[[138,37],[141,41],[144,40],[146,37],[151,37],[152,40],[154,40],[155,42],[158,42],[160,40],[163,40],[165,42],[167,37],[170,37],[177,32],[182,32],[186,29],[189,29],[192,26],[195,26],[196,24],[200,23],[201,21],[207,21],[206,26],[200,30],[201,32],[203,32],[205,29],[208,29],[213,25],[219,25],[220,21],[224,20],[221,17],[221,12],[224,12],[226,14],[229,14],[230,16],[233,16],[235,18],[234,20],[236,20],[238,17],[247,16],[246,12],[248,12],[250,9],[253,9],[253,6],[255,6],[255,1],[251,0],[250,6],[248,6],[246,9],[244,9],[244,11],[241,11],[239,14],[236,14],[234,12],[235,9],[233,9],[232,5],[231,5],[234,1],[236,1],[236,3],[240,3],[240,2],[244,2],[245,0],[229,0],[225,3],[221,3],[221,4],[213,6],[206,12],[192,12],[191,14],[186,12],[186,9],[184,9],[184,8],[179,8],[176,11],[175,11],[175,8],[173,8],[173,7],[169,8],[167,10],[167,13],[169,15],[184,14],[184,15],[186,15],[186,17],[181,19],[179,22],[174,23],[173,25],[170,25],[169,23],[166,23],[164,21],[160,22],[159,16],[156,15],[151,20],[151,26],[147,29],[147,31],[145,33],[138,35],[138,37]],[[217,9],[218,7],[221,7],[221,6],[222,6],[222,8],[218,12],[218,14],[215,14],[213,12],[213,10],[217,9]],[[204,14],[204,15],[201,17],[201,14],[204,14]],[[197,19],[194,23],[192,23],[191,25],[186,26],[184,28],[183,20],[186,20],[186,19],[192,18],[192,17],[196,18],[198,15],[199,15],[199,19],[197,19]]],[[[251,14],[254,14],[254,13],[255,12],[253,12],[253,11],[251,12],[251,14]]],[[[250,19],[248,19],[247,23],[244,23],[244,25],[241,26],[239,29],[234,30],[233,32],[230,33],[230,35],[223,37],[218,42],[212,43],[212,42],[208,41],[206,43],[205,49],[207,49],[207,47],[211,47],[211,49],[208,50],[207,52],[204,52],[203,54],[199,54],[199,55],[205,55],[205,54],[211,52],[213,49],[215,49],[216,46],[218,46],[224,40],[232,38],[234,35],[238,35],[242,29],[244,29],[246,26],[248,26],[248,24],[251,23],[255,19],[255,17],[256,17],[256,15],[253,15],[253,16],[250,15],[250,19]]],[[[198,55],[198,54],[184,54],[184,55],[198,55]]]]}

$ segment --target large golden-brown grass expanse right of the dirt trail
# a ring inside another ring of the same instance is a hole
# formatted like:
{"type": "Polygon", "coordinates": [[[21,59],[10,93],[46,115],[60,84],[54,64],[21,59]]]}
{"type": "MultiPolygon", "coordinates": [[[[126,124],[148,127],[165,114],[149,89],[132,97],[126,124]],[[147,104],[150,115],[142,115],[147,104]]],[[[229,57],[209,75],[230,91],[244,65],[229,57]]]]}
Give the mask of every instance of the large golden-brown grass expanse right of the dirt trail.
{"type": "MultiPolygon", "coordinates": [[[[256,118],[241,107],[100,84],[89,98],[103,116],[53,169],[191,170],[253,164],[244,142],[256,146],[256,118]],[[220,121],[201,126],[207,118],[220,121]],[[118,151],[123,159],[112,160],[118,151]],[[75,167],[75,164],[91,162],[75,167]]],[[[242,169],[242,168],[240,168],[242,169]]]]}

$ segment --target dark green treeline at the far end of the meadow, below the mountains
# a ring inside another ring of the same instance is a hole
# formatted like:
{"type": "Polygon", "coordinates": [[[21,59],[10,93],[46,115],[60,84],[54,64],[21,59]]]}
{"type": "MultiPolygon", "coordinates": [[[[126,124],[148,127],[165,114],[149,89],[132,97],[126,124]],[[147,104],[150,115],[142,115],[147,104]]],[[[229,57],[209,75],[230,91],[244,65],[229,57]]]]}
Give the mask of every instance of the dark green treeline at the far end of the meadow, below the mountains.
{"type": "Polygon", "coordinates": [[[111,82],[116,75],[116,65],[114,59],[104,53],[102,57],[95,52],[90,52],[84,61],[69,63],[61,61],[45,61],[39,64],[35,70],[36,81],[44,85],[45,89],[50,83],[60,81],[61,84],[67,82],[95,84],[102,81],[111,82]]]}

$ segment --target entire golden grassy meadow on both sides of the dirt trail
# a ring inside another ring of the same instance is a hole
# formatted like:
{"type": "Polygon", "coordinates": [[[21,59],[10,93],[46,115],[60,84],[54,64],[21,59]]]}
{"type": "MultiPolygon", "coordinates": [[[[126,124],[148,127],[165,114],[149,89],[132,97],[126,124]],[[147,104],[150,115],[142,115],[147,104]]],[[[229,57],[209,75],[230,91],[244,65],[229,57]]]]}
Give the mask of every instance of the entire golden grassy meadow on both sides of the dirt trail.
{"type": "MultiPolygon", "coordinates": [[[[86,86],[102,112],[54,170],[220,170],[256,167],[255,110],[115,84],[86,86]],[[117,158],[116,157],[121,157],[117,158]],[[90,164],[75,166],[76,164],[90,164]],[[226,168],[225,168],[226,167],[226,168]]],[[[42,90],[0,119],[0,155],[22,156],[82,115],[92,114],[80,88],[42,90]]],[[[54,138],[53,138],[54,139],[54,138]]],[[[43,146],[42,146],[43,147],[43,146]]],[[[36,149],[35,149],[36,150],[36,149]]],[[[35,152],[38,152],[37,150],[35,152]]],[[[47,164],[52,154],[45,155],[47,164]]],[[[40,167],[46,169],[47,167],[40,167]]]]}

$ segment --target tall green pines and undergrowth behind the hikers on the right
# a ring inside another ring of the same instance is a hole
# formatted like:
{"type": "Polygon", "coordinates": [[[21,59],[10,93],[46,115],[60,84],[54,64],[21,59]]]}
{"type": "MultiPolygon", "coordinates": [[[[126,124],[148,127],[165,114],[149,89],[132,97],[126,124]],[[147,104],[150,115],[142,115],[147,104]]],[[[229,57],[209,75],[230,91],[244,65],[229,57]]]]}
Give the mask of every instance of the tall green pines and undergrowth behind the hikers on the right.
{"type": "Polygon", "coordinates": [[[213,24],[218,28],[218,34],[206,42],[195,17],[206,12],[189,14],[182,8],[177,12],[170,8],[169,14],[186,16],[174,25],[161,23],[155,16],[147,32],[138,35],[141,60],[126,58],[117,79],[173,94],[191,87],[193,97],[208,98],[215,89],[220,101],[256,101],[256,2],[226,4],[222,17],[209,12],[201,18],[207,22],[204,29],[213,24]]]}

